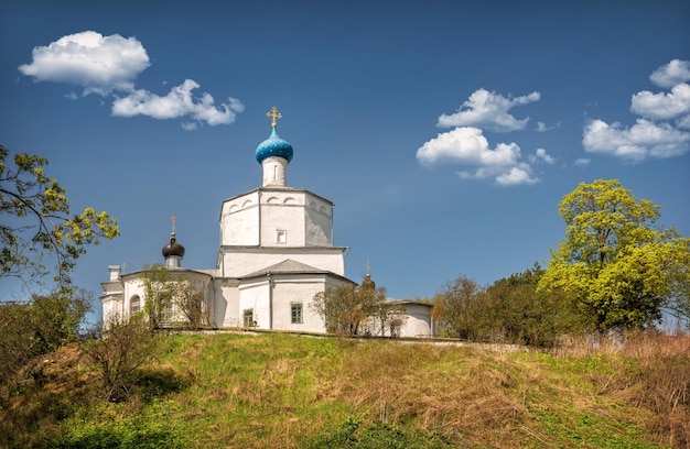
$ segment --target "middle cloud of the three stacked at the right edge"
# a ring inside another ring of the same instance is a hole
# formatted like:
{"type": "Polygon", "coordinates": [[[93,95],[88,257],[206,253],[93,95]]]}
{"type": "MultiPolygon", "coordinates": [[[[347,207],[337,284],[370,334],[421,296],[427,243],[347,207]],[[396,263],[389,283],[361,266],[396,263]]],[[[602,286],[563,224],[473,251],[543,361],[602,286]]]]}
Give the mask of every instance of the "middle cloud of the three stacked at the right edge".
{"type": "Polygon", "coordinates": [[[690,113],[690,85],[678,84],[669,94],[648,90],[635,94],[630,111],[651,120],[672,120],[690,113]]]}

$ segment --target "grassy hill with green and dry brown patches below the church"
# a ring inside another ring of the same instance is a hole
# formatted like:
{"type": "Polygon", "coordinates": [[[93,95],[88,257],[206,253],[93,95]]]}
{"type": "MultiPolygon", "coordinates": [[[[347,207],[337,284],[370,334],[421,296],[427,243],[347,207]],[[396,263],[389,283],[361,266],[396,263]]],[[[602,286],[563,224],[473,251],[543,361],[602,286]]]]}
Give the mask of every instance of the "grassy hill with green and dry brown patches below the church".
{"type": "Polygon", "coordinates": [[[554,353],[272,333],[160,340],[118,404],[78,346],[43,358],[0,404],[0,446],[690,445],[688,336],[554,353]]]}

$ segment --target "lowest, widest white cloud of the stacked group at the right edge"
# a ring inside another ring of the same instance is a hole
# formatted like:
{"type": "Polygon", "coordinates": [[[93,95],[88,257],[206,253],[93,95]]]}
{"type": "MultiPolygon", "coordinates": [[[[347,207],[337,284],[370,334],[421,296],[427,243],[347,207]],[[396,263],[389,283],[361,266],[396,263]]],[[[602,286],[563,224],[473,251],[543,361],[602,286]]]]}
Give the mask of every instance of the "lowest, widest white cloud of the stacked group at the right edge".
{"type": "Polygon", "coordinates": [[[630,128],[592,120],[584,129],[582,143],[587,153],[603,153],[632,162],[646,157],[672,157],[688,152],[690,133],[668,123],[637,119],[630,128]]]}

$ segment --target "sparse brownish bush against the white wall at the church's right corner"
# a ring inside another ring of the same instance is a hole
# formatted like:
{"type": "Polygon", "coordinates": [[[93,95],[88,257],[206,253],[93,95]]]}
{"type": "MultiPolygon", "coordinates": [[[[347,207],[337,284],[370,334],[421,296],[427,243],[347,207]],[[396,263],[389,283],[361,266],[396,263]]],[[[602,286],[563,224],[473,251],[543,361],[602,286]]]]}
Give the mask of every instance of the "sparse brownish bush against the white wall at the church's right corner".
{"type": "Polygon", "coordinates": [[[310,308],[323,319],[326,331],[339,336],[375,333],[374,324],[381,324],[380,331],[400,315],[399,308],[386,302],[386,288],[376,287],[367,275],[362,286],[338,285],[314,296],[310,308]]]}

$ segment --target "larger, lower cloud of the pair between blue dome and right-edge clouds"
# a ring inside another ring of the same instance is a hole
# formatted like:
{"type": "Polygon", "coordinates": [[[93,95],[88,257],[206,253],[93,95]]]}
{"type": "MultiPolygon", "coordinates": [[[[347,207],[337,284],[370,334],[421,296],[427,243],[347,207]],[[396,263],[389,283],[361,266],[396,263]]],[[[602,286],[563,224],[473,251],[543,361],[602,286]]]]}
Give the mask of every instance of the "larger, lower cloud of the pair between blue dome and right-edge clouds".
{"type": "MultiPolygon", "coordinates": [[[[546,152],[545,152],[546,154],[546,152]]],[[[453,163],[472,167],[459,172],[462,178],[494,178],[499,185],[532,184],[528,164],[520,162],[520,147],[515,143],[499,143],[490,149],[482,130],[456,128],[440,133],[417,150],[417,160],[427,166],[453,163]]]]}

